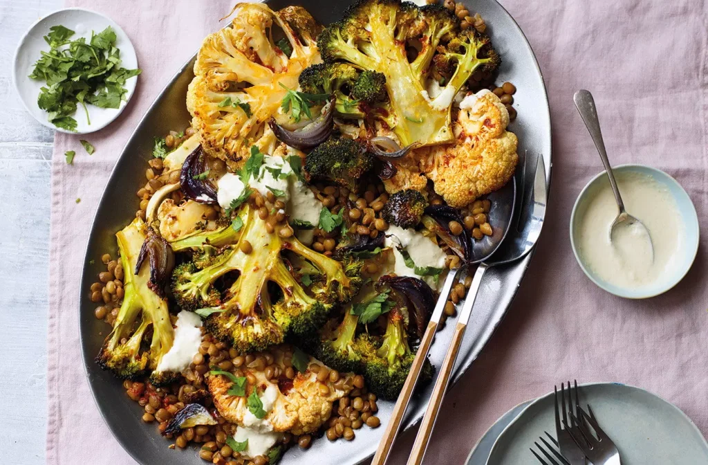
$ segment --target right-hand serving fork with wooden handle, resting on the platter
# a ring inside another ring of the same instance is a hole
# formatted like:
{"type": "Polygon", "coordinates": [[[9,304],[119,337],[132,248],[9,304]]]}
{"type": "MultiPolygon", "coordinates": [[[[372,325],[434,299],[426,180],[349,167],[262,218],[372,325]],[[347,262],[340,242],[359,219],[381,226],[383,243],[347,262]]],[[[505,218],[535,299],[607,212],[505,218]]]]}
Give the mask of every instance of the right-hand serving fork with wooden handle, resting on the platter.
{"type": "MultiPolygon", "coordinates": [[[[525,159],[525,164],[528,163],[529,160],[525,159]]],[[[448,347],[445,359],[440,366],[440,374],[438,374],[438,379],[435,381],[433,393],[430,394],[428,408],[426,409],[426,414],[423,416],[418,435],[416,435],[416,442],[413,444],[413,450],[411,451],[408,465],[420,465],[423,461],[423,456],[426,454],[428,441],[432,435],[433,427],[435,427],[435,419],[438,417],[442,399],[445,397],[447,385],[450,383],[452,369],[455,367],[457,353],[459,352],[459,347],[462,345],[462,337],[464,336],[464,331],[467,329],[469,317],[472,315],[474,301],[476,300],[485,271],[497,265],[508,264],[522,259],[533,250],[541,234],[547,201],[546,168],[543,157],[540,155],[535,160],[535,163],[534,176],[529,183],[530,189],[525,189],[526,180],[523,179],[522,174],[522,179],[519,183],[522,186],[522,189],[519,189],[522,192],[520,197],[522,201],[521,208],[518,208],[518,213],[515,213],[515,218],[513,218],[511,222],[512,226],[506,239],[489,259],[479,264],[479,267],[477,267],[474,273],[467,299],[464,301],[462,310],[459,313],[459,318],[457,319],[455,332],[452,334],[450,347],[448,347]],[[523,191],[526,190],[528,191],[527,196],[523,194],[523,191]]],[[[530,166],[533,166],[533,164],[530,164],[530,166]]]]}

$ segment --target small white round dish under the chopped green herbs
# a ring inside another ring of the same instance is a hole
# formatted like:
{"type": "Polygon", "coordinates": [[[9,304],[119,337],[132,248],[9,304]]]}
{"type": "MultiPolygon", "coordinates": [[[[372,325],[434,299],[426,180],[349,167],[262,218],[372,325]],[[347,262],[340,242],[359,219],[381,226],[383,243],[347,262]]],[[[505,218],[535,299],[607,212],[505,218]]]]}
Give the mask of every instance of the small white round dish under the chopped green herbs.
{"type": "Polygon", "coordinates": [[[48,14],[34,23],[27,33],[25,33],[22,40],[20,40],[20,44],[15,52],[15,59],[13,60],[13,81],[15,82],[15,89],[17,89],[17,93],[20,94],[27,111],[34,116],[35,120],[47,126],[47,128],[67,134],[93,133],[94,131],[105,128],[108,123],[118,118],[118,115],[123,111],[123,108],[125,108],[127,102],[130,101],[130,97],[132,97],[132,94],[135,92],[137,77],[131,77],[125,82],[125,89],[127,89],[127,94],[125,94],[126,101],[120,103],[120,108],[98,108],[98,106],[87,105],[86,107],[89,108],[89,118],[91,118],[91,124],[89,125],[89,121],[86,121],[84,108],[79,105],[79,108],[76,109],[76,114],[73,116],[76,120],[76,133],[57,128],[47,121],[47,112],[40,109],[37,105],[37,97],[40,94],[40,88],[45,86],[46,83],[30,79],[28,76],[32,73],[35,62],[40,58],[40,52],[42,52],[42,50],[49,50],[49,45],[45,42],[44,36],[50,32],[49,29],[52,26],[59,25],[74,31],[72,39],[79,37],[89,38],[91,30],[100,33],[101,30],[110,26],[115,30],[115,46],[120,50],[120,60],[122,61],[120,66],[126,69],[137,68],[135,48],[133,48],[125,31],[113,20],[106,18],[102,14],[81,8],[67,8],[48,14]]]}

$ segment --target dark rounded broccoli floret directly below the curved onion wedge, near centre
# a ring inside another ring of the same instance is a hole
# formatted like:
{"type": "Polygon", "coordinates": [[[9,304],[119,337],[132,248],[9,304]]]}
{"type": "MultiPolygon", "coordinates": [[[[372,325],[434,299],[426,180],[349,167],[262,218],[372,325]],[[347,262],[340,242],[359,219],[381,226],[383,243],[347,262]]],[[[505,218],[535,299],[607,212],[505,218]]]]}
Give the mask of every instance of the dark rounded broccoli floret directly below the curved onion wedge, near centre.
{"type": "Polygon", "coordinates": [[[374,166],[374,159],[361,142],[329,138],[305,158],[305,171],[311,179],[327,179],[358,191],[362,176],[374,166]]]}

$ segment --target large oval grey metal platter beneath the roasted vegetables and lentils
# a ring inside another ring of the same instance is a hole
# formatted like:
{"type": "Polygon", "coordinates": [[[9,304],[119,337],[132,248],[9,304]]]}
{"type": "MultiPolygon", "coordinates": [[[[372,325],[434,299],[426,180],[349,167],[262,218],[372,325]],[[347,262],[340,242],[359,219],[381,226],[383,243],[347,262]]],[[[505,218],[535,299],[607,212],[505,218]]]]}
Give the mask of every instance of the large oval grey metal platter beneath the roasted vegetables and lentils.
{"type": "MultiPolygon", "coordinates": [[[[305,6],[322,23],[338,19],[343,9],[348,6],[346,1],[303,0],[295,3],[305,6]]],[[[274,0],[270,4],[274,9],[278,9],[292,4],[292,1],[274,0]]],[[[503,57],[500,82],[513,82],[518,89],[514,95],[518,118],[510,125],[510,130],[518,135],[519,152],[528,151],[543,155],[550,189],[551,121],[546,89],[536,58],[518,25],[496,1],[469,1],[467,4],[470,11],[479,12],[485,18],[496,50],[503,57]]],[[[189,121],[185,94],[192,77],[192,62],[189,62],[177,72],[172,82],[158,96],[125,145],[93,220],[84,260],[86,266],[81,276],[79,325],[86,376],[108,427],[125,450],[144,465],[163,464],[167,461],[175,465],[204,462],[198,458],[197,449],[194,447],[183,451],[167,449],[169,442],[160,437],[155,425],[146,425],[140,420],[139,406],[125,396],[120,381],[109,372],[102,371],[93,362],[110,328],[93,316],[96,304],[91,303],[88,289],[96,274],[102,271],[101,255],[116,250],[115,232],[123,228],[135,215],[135,191],[144,181],[145,164],[151,158],[152,138],[173,128],[184,127],[189,121]],[[91,259],[95,260],[94,264],[90,264],[91,259]]],[[[528,256],[513,266],[495,267],[487,271],[474,306],[472,321],[457,357],[453,382],[469,368],[501,322],[530,259],[528,256]]],[[[447,325],[438,335],[440,340],[450,340],[452,329],[453,325],[447,325]]],[[[430,361],[436,366],[440,366],[445,357],[445,349],[446,344],[433,344],[430,361]]],[[[431,386],[432,384],[411,401],[408,415],[404,419],[406,428],[414,425],[423,416],[431,386]]],[[[383,422],[391,415],[393,405],[387,402],[379,403],[379,417],[383,422]]],[[[307,452],[297,447],[291,449],[282,463],[356,464],[375,452],[382,433],[383,428],[362,428],[357,431],[357,437],[352,442],[332,443],[326,439],[318,440],[307,452]]]]}

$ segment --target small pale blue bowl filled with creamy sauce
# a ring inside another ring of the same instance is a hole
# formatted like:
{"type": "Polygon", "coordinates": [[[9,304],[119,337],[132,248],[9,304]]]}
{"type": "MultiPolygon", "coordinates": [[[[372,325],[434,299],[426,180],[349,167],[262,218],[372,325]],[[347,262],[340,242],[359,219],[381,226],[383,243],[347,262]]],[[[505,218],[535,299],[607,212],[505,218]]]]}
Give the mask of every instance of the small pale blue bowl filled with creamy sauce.
{"type": "Polygon", "coordinates": [[[610,242],[617,203],[607,174],[585,186],[573,206],[571,245],[578,264],[595,284],[625,298],[658,296],[678,284],[698,251],[698,217],[683,187],[665,172],[640,164],[613,169],[624,206],[649,230],[610,242]]]}

